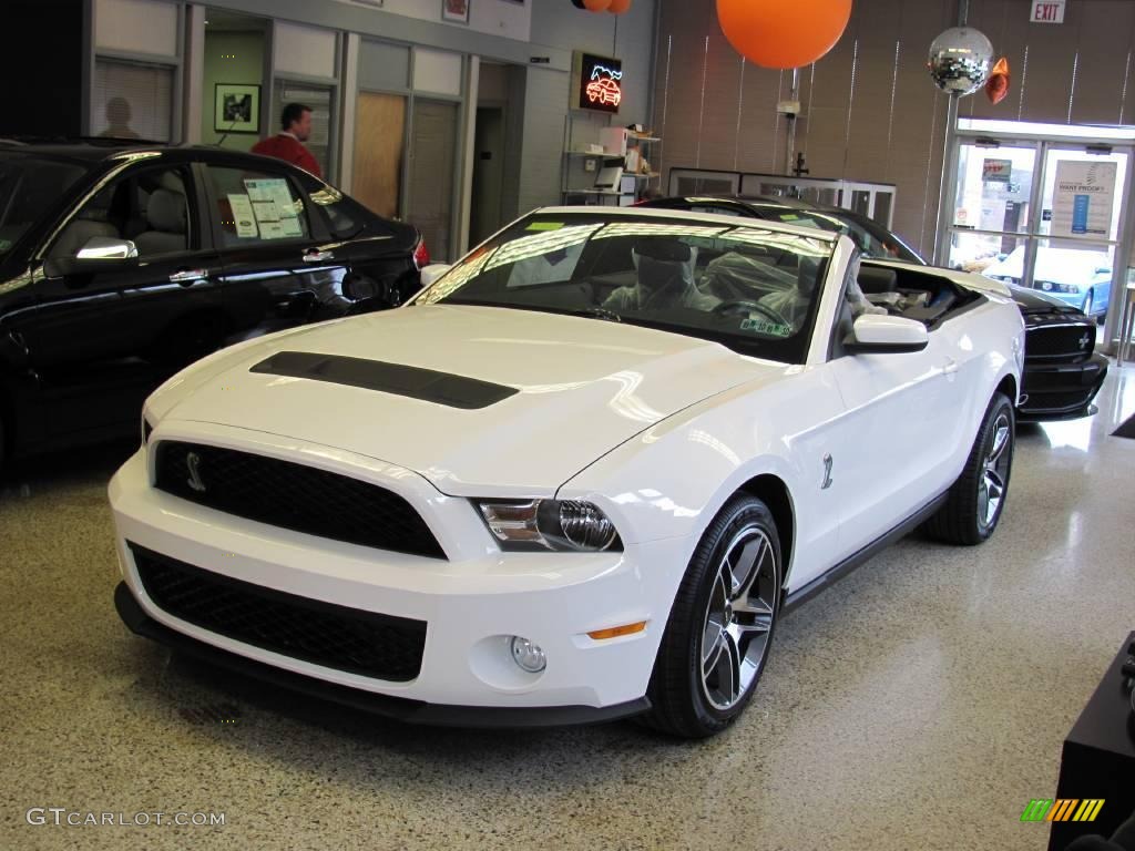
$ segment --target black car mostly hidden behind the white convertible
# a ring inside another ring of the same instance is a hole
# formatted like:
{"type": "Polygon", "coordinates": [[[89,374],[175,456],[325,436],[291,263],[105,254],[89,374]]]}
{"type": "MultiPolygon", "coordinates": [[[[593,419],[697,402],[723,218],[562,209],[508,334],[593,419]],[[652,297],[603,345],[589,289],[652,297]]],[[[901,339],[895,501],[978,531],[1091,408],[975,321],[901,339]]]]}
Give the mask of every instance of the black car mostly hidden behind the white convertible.
{"type": "MultiPolygon", "coordinates": [[[[666,197],[639,207],[696,210],[770,219],[847,234],[866,258],[927,266],[898,235],[866,216],[791,197],[666,197]]],[[[1108,359],[1095,352],[1095,320],[1035,289],[1006,284],[1025,318],[1025,370],[1020,421],[1069,420],[1095,413],[1092,399],[1108,374],[1108,359]]]]}

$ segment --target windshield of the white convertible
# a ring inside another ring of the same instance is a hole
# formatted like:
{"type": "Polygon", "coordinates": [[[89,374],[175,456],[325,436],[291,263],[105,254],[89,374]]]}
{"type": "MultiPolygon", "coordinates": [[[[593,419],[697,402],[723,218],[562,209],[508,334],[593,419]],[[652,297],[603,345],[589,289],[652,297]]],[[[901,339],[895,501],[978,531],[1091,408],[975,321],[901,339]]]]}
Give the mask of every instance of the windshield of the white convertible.
{"type": "Polygon", "coordinates": [[[834,243],[696,218],[535,213],[414,304],[476,304],[627,322],[802,363],[834,243]]]}

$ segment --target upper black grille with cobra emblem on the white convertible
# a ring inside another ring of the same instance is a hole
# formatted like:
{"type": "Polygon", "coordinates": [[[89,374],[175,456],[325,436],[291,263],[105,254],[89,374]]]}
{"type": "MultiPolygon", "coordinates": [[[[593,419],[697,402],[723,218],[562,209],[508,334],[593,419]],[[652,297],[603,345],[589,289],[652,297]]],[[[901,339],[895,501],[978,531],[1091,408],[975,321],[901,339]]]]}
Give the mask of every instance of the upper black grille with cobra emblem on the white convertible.
{"type": "Polygon", "coordinates": [[[426,521],[377,485],[236,449],[163,440],[157,487],[227,514],[320,538],[445,558],[426,521]]]}

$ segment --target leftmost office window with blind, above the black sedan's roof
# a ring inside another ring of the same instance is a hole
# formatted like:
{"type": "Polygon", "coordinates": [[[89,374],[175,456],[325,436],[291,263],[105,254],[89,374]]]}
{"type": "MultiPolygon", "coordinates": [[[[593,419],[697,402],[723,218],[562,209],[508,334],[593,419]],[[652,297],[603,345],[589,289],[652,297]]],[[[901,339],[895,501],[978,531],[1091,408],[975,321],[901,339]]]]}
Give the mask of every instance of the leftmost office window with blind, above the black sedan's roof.
{"type": "Polygon", "coordinates": [[[91,133],[173,141],[174,69],[163,65],[96,59],[91,133]]]}

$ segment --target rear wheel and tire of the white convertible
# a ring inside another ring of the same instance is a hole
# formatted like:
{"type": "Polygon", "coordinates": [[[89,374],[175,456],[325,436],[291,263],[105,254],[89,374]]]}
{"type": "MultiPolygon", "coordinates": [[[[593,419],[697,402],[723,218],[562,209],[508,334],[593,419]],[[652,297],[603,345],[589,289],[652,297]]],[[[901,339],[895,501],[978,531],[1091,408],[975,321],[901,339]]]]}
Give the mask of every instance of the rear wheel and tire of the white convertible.
{"type": "Polygon", "coordinates": [[[993,534],[1009,494],[1016,424],[1012,403],[1003,393],[994,393],[961,475],[950,488],[945,505],[926,521],[924,529],[930,537],[947,544],[974,546],[993,534]],[[1008,431],[1003,431],[1006,428],[1008,431]],[[1000,433],[1004,435],[1004,443],[994,457],[1000,433]],[[991,460],[993,467],[990,466],[991,460]],[[987,473],[994,479],[987,478],[987,473]],[[994,481],[998,497],[991,508],[994,481]]]}

